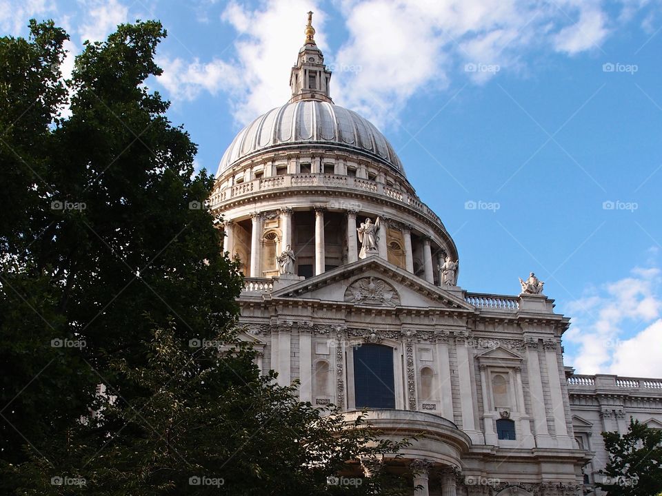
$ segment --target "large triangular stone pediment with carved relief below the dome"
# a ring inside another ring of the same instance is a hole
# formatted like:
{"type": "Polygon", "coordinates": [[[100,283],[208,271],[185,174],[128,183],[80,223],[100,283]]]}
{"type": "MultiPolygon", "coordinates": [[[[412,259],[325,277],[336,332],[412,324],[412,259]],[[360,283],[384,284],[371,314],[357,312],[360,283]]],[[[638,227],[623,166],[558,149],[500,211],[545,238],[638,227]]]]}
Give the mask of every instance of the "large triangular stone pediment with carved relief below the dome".
{"type": "Polygon", "coordinates": [[[301,298],[367,307],[442,307],[473,311],[461,296],[372,256],[275,289],[272,299],[301,298]]]}

